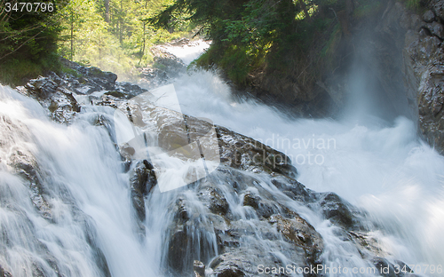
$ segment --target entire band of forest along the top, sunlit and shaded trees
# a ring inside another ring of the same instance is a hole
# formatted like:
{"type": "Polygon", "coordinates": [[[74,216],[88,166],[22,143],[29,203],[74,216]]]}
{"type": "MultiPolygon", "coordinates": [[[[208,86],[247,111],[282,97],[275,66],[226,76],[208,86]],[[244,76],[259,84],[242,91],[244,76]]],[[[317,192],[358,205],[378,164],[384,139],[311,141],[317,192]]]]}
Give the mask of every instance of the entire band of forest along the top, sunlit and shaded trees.
{"type": "MultiPolygon", "coordinates": [[[[413,9],[424,1],[406,0],[413,9]]],[[[260,72],[294,72],[310,86],[331,66],[348,26],[378,11],[373,0],[52,0],[52,12],[3,1],[0,80],[23,84],[59,57],[115,72],[121,80],[153,62],[149,48],[178,37],[212,41],[195,63],[222,68],[234,83],[260,72]],[[12,8],[9,9],[7,6],[12,8]],[[15,9],[14,9],[15,7],[15,9]]],[[[24,3],[21,3],[24,4],[24,3]]],[[[36,8],[36,7],[35,7],[36,8]]]]}

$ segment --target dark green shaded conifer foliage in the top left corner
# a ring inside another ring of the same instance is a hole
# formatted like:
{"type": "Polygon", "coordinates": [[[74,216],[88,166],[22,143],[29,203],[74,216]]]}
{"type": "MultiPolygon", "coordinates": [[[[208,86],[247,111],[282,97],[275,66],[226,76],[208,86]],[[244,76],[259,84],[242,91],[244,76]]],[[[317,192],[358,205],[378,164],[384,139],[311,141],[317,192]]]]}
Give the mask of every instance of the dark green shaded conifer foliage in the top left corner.
{"type": "MultiPolygon", "coordinates": [[[[18,2],[8,1],[12,7],[18,2]]],[[[53,12],[21,11],[20,4],[19,11],[6,12],[5,2],[0,4],[0,82],[22,84],[59,67],[54,55],[60,31],[57,12],[66,3],[52,3],[53,12]]]]}

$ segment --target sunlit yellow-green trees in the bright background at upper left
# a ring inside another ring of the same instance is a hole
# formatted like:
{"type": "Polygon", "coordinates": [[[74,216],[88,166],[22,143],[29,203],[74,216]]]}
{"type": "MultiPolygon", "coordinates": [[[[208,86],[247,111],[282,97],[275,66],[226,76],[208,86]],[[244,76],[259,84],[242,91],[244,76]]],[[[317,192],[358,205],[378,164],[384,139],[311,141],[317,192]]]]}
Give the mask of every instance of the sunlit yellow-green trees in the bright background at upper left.
{"type": "Polygon", "coordinates": [[[149,48],[153,44],[168,42],[186,36],[186,24],[176,32],[155,29],[147,17],[159,12],[170,0],[71,0],[60,12],[63,40],[59,53],[87,66],[115,72],[120,80],[132,80],[134,67],[146,66],[153,61],[149,48]]]}

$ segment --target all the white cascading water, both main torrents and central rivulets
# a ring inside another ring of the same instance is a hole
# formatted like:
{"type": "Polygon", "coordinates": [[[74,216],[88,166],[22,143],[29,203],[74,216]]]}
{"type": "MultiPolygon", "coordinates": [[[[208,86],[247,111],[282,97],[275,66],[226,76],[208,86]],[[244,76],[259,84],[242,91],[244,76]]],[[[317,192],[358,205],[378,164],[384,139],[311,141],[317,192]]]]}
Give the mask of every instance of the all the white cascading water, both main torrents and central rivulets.
{"type": "MultiPolygon", "coordinates": [[[[175,53],[179,58],[188,54],[175,53]]],[[[362,219],[363,224],[377,226],[371,235],[390,254],[390,260],[434,265],[435,273],[436,267],[444,263],[440,250],[444,248],[440,238],[444,228],[444,159],[417,139],[414,123],[408,119],[398,118],[392,124],[380,120],[356,123],[353,118],[339,122],[289,120],[274,108],[234,99],[228,85],[211,72],[181,75],[173,83],[184,114],[210,118],[274,147],[289,155],[299,172],[298,181],[305,186],[336,192],[366,210],[368,217],[362,219]]],[[[193,233],[191,246],[186,246],[190,253],[178,264],[189,265],[193,259],[209,263],[218,255],[217,237],[208,226],[226,223],[209,217],[194,186],[167,193],[160,193],[156,186],[145,201],[143,226],[138,223],[129,193],[129,173],[124,173],[115,149],[113,126],[98,124],[99,118],[112,122],[113,114],[110,107],[85,106],[75,123],[61,126],[46,119],[36,101],[2,89],[0,265],[12,276],[174,274],[165,268],[174,262],[168,262],[169,243],[181,242],[168,241],[174,232],[170,226],[179,220],[171,212],[177,202],[186,202],[187,209],[194,212],[193,225],[186,226],[193,233]],[[36,168],[29,170],[27,165],[36,168]],[[20,178],[23,175],[31,180],[30,184],[27,178],[20,178]],[[40,194],[45,199],[39,198],[40,194]]],[[[151,146],[155,147],[155,143],[151,146]]],[[[163,162],[180,163],[173,157],[163,162]]],[[[251,194],[271,195],[321,233],[325,265],[372,266],[316,210],[292,201],[266,175],[250,172],[245,176],[256,184],[250,186],[251,194]]],[[[172,174],[169,181],[180,178],[183,174],[172,174]]],[[[243,195],[226,186],[234,184],[233,174],[220,171],[210,178],[208,187],[226,198],[226,209],[233,213],[230,220],[245,226],[242,245],[273,253],[282,265],[298,258],[284,250],[284,242],[261,237],[259,231],[267,226],[262,225],[254,210],[242,205],[243,195]]],[[[270,236],[280,235],[269,232],[270,236]]],[[[427,275],[433,275],[430,269],[424,274],[427,275]]]]}

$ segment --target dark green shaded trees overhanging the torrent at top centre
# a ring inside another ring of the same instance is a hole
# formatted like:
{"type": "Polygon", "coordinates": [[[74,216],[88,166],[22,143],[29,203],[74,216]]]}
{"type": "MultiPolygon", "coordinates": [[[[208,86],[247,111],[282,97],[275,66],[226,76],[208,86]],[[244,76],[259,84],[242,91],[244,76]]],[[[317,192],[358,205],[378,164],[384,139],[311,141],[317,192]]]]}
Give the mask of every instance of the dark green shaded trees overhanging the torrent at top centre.
{"type": "Polygon", "coordinates": [[[217,65],[237,84],[262,71],[296,76],[304,87],[331,66],[353,22],[382,6],[380,0],[177,0],[150,21],[170,28],[188,15],[213,42],[194,64],[217,65]]]}

